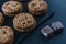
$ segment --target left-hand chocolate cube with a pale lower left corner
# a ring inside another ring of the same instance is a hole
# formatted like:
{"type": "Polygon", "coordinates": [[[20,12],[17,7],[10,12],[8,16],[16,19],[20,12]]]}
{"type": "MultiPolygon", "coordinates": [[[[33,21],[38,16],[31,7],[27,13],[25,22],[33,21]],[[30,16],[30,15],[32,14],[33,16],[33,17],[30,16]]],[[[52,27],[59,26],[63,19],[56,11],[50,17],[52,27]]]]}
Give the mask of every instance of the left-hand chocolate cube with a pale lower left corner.
{"type": "Polygon", "coordinates": [[[46,25],[45,28],[43,28],[41,30],[42,34],[45,36],[45,37],[51,37],[53,34],[54,34],[54,30],[52,28],[50,28],[48,25],[46,25]]]}

